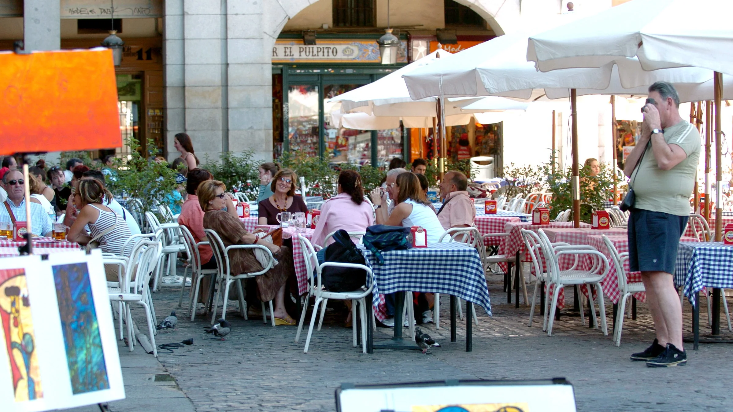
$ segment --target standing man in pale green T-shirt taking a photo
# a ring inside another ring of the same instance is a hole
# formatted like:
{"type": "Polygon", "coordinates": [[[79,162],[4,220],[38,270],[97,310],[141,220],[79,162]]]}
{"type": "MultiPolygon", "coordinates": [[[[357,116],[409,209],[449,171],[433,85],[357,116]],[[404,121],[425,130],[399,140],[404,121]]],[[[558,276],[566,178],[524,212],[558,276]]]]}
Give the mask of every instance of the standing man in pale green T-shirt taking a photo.
{"type": "Polygon", "coordinates": [[[657,338],[632,361],[648,367],[687,363],[682,305],[674,287],[679,238],[690,216],[690,194],[700,157],[700,133],[679,116],[677,90],[665,81],[649,87],[644,124],[626,160],[634,203],[629,218],[629,268],[641,271],[657,338]]]}

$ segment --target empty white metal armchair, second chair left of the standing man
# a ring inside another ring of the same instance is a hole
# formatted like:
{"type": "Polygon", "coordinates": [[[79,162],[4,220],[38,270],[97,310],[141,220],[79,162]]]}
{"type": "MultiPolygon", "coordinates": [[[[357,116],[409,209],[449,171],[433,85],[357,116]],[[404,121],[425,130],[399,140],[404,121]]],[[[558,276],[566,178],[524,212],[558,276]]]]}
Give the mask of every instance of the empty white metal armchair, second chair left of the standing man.
{"type": "MultiPolygon", "coordinates": [[[[600,251],[597,251],[590,246],[588,246],[589,249],[557,248],[561,250],[556,251],[556,249],[553,248],[552,243],[550,243],[547,235],[545,235],[545,231],[542,229],[537,229],[537,237],[539,238],[539,243],[542,245],[540,250],[542,251],[542,256],[545,258],[545,265],[547,265],[548,273],[550,274],[550,285],[554,286],[550,312],[545,312],[548,317],[548,336],[552,336],[552,326],[553,321],[555,320],[555,311],[557,310],[559,289],[576,284],[586,284],[596,287],[597,301],[600,309],[601,328],[603,328],[603,336],[608,336],[608,327],[605,322],[605,305],[603,304],[603,286],[600,284],[606,273],[608,273],[608,259],[606,259],[605,255],[600,253],[600,251]],[[575,268],[568,271],[560,271],[559,260],[565,254],[587,255],[592,257],[592,267],[588,271],[577,270],[575,268]]],[[[577,248],[577,246],[573,247],[577,248]]],[[[593,293],[590,288],[588,294],[591,316],[593,317],[594,325],[597,328],[598,323],[596,321],[593,293]]]]}

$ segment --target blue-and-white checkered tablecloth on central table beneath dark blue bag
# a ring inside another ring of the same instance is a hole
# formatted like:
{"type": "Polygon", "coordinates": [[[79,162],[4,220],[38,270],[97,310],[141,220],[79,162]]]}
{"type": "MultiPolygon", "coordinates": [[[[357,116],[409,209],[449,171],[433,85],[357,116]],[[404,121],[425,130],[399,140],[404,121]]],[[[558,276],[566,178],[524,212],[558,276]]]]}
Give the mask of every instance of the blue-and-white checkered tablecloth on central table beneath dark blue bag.
{"type": "Polygon", "coordinates": [[[482,306],[491,315],[479,252],[471,246],[460,242],[434,243],[427,248],[382,252],[383,265],[371,251],[359,247],[375,276],[375,306],[379,305],[380,293],[445,293],[482,306]]]}

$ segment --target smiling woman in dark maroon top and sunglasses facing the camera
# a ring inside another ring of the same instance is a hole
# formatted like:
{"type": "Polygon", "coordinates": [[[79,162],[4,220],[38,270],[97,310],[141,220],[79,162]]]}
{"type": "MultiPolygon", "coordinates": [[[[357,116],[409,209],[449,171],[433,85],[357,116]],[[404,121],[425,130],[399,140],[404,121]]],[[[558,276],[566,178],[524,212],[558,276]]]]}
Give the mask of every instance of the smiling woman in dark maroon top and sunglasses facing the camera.
{"type": "Polygon", "coordinates": [[[306,202],[301,196],[295,196],[295,185],[298,174],[292,169],[281,169],[273,177],[270,189],[273,195],[259,202],[259,224],[279,224],[277,214],[281,212],[308,213],[306,202]]]}

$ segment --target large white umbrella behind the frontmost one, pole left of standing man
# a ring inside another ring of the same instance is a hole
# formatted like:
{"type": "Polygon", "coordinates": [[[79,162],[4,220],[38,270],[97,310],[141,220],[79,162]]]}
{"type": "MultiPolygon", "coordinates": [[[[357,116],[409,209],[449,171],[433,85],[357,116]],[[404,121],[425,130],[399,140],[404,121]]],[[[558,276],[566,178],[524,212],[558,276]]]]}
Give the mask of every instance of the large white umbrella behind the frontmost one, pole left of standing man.
{"type": "Polygon", "coordinates": [[[528,34],[505,34],[481,45],[455,54],[450,61],[435,62],[406,73],[410,96],[413,99],[429,96],[501,95],[512,98],[570,97],[572,117],[573,215],[575,226],[580,225],[580,191],[578,175],[578,128],[576,97],[578,95],[639,95],[655,81],[669,81],[680,86],[680,98],[697,99],[705,81],[711,76],[707,70],[693,67],[669,68],[647,72],[638,59],[616,59],[603,67],[573,68],[542,73],[534,63],[526,60],[528,34]],[[619,72],[633,76],[622,78],[619,72]],[[686,94],[685,94],[686,93],[686,94]]]}

